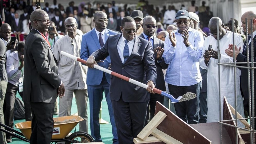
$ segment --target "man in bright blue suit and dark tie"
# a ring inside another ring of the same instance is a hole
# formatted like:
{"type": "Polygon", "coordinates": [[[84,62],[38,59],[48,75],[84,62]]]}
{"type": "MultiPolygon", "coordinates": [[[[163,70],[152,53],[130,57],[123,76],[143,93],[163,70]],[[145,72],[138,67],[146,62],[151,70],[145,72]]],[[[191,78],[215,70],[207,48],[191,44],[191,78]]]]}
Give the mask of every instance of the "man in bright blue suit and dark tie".
{"type": "MultiPolygon", "coordinates": [[[[80,58],[84,60],[87,60],[93,52],[100,49],[109,36],[117,34],[117,32],[106,28],[108,19],[107,14],[103,11],[98,11],[94,14],[93,22],[95,28],[82,36],[80,58]]],[[[101,67],[108,68],[110,57],[98,60],[97,63],[101,67]]],[[[88,88],[88,98],[90,100],[90,127],[92,137],[95,139],[95,142],[102,142],[100,136],[99,113],[104,90],[112,125],[113,144],[118,143],[113,107],[109,98],[110,75],[98,69],[88,68],[86,84],[88,88]]]]}

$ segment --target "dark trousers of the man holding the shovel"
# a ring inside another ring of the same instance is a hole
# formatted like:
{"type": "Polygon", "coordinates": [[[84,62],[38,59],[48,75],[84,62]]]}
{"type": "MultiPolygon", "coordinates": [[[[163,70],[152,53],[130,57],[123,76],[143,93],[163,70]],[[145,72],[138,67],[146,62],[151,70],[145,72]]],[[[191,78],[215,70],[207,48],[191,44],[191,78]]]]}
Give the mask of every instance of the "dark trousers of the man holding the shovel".
{"type": "Polygon", "coordinates": [[[112,101],[119,144],[133,143],[143,129],[148,102],[127,103],[121,98],[112,101]]]}

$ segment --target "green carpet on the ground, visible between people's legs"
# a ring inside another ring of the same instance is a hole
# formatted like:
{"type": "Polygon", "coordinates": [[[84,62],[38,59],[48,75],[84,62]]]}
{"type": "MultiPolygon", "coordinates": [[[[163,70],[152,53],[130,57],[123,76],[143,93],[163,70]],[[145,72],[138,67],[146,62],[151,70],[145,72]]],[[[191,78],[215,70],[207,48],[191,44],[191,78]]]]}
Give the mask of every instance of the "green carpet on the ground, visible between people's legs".
{"type": "MultiPolygon", "coordinates": [[[[18,94],[17,94],[17,97],[20,98],[20,96],[18,94]]],[[[90,102],[88,100],[88,103],[87,103],[87,105],[88,105],[88,110],[87,110],[87,113],[88,113],[88,127],[89,127],[88,128],[89,129],[88,133],[91,134],[89,103],[90,102]]],[[[76,101],[75,101],[75,97],[73,96],[71,114],[75,114],[76,112],[77,112],[76,101]]],[[[54,116],[54,117],[57,117],[57,116],[54,116]]],[[[109,122],[107,124],[100,124],[100,135],[101,135],[102,141],[105,144],[111,144],[112,143],[112,138],[113,138],[112,126],[111,126],[110,118],[109,118],[109,115],[108,115],[107,102],[106,102],[106,98],[104,96],[104,93],[103,93],[103,100],[102,100],[102,118],[109,122]]],[[[14,124],[15,123],[20,123],[20,122],[25,122],[25,119],[15,120],[14,124]]],[[[20,131],[20,130],[16,129],[15,126],[14,126],[14,129],[17,130],[17,131],[20,131]]],[[[78,124],[76,126],[76,130],[79,130],[78,124]]],[[[73,132],[74,132],[74,129],[71,131],[71,133],[73,133],[73,132]]],[[[10,144],[25,144],[25,143],[27,144],[27,142],[24,142],[24,141],[22,141],[18,138],[13,138],[12,141],[13,142],[11,142],[10,144]]]]}

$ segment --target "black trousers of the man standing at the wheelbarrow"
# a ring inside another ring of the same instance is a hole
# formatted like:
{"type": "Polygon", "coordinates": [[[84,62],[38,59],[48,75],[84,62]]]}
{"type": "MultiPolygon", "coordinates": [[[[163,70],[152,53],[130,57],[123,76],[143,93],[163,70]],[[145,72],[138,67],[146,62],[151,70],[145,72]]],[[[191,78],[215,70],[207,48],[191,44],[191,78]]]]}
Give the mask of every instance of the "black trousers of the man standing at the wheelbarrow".
{"type": "Polygon", "coordinates": [[[53,131],[54,103],[30,102],[32,134],[30,144],[50,144],[53,131]]]}

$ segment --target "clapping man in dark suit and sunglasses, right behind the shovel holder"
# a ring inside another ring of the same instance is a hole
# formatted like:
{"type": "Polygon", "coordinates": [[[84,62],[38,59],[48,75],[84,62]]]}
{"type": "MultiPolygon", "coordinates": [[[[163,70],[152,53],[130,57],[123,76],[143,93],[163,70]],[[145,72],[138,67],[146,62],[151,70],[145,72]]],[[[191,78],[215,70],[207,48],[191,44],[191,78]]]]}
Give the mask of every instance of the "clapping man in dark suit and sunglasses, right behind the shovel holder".
{"type": "MultiPolygon", "coordinates": [[[[146,16],[143,19],[143,33],[140,37],[148,40],[153,45],[153,51],[155,54],[155,65],[156,65],[156,88],[161,89],[162,91],[166,91],[165,83],[164,83],[164,73],[162,69],[168,68],[168,64],[165,64],[164,59],[162,58],[162,54],[164,52],[164,41],[158,39],[154,34],[157,28],[156,20],[152,16],[146,16]]],[[[160,103],[164,103],[164,96],[159,94],[150,94],[150,101],[146,116],[146,123],[148,120],[151,120],[155,115],[156,101],[160,103]],[[150,114],[150,115],[149,115],[150,114]]]]}

